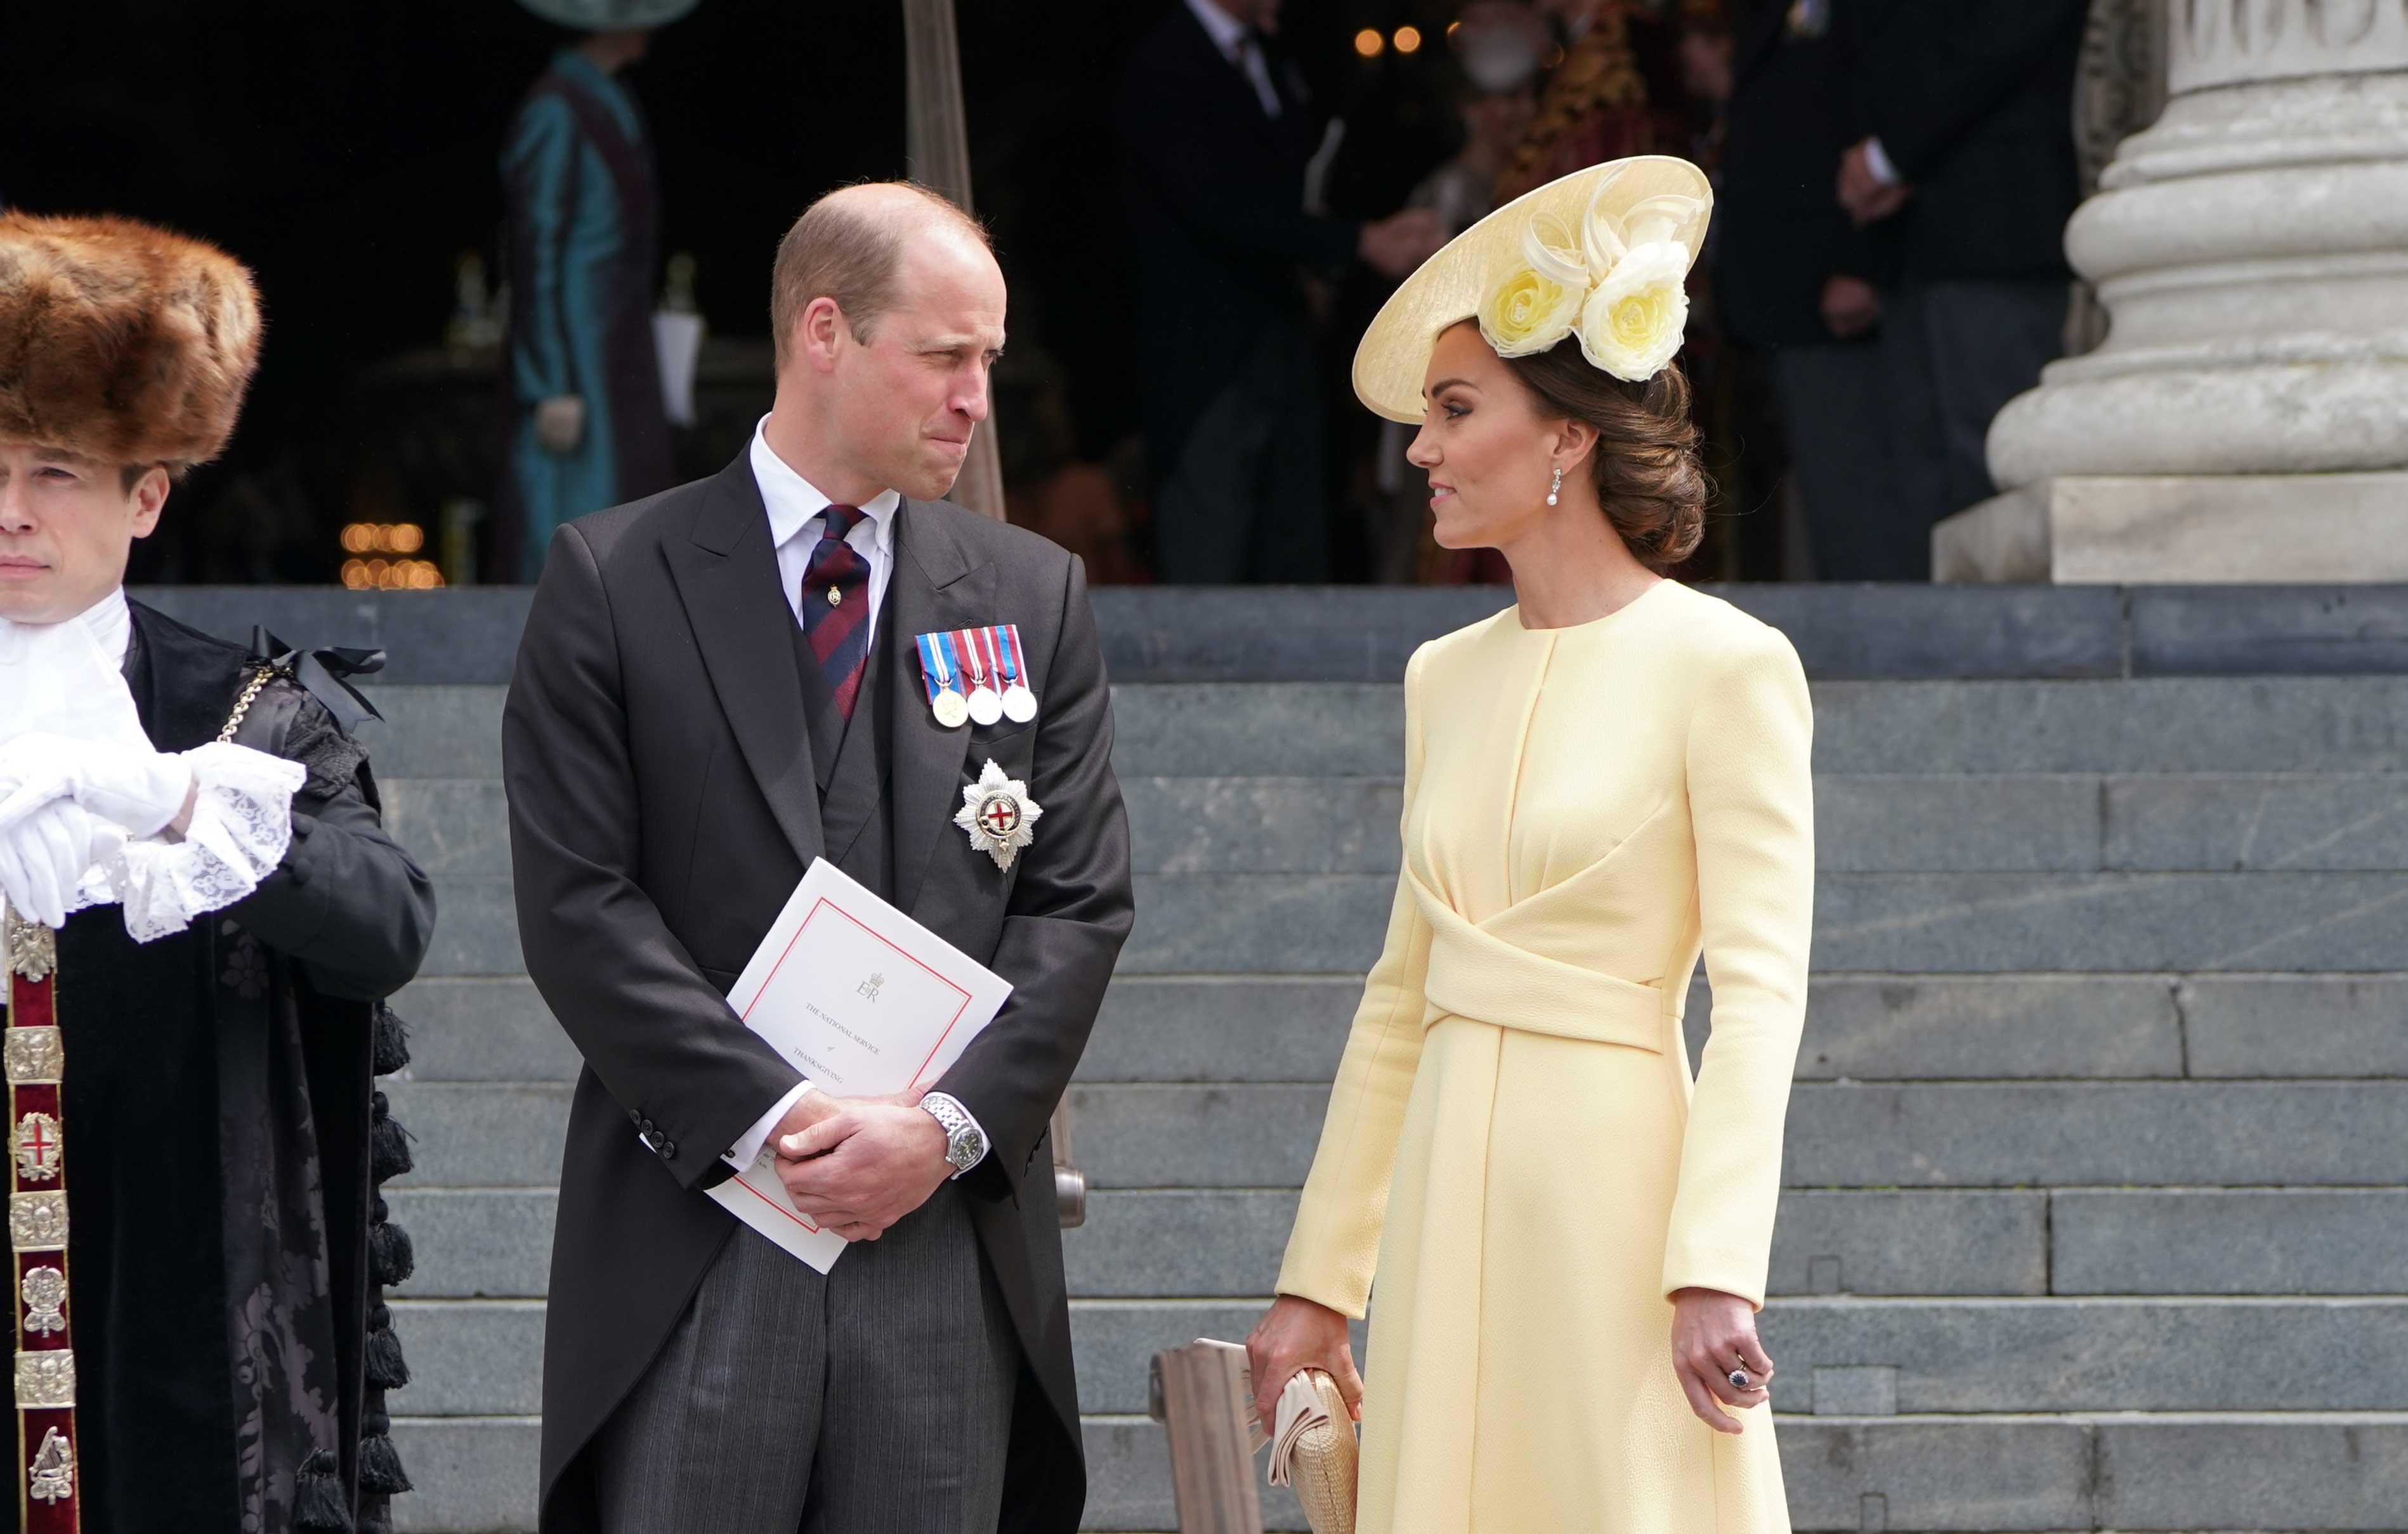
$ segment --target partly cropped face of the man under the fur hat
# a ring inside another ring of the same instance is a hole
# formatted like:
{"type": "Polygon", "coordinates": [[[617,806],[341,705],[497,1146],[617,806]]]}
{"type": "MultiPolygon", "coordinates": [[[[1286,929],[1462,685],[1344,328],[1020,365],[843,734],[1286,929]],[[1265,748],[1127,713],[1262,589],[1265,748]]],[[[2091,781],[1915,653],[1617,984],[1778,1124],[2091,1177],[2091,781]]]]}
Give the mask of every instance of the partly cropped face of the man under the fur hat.
{"type": "Polygon", "coordinates": [[[128,490],[116,464],[0,442],[0,618],[65,623],[108,596],[166,493],[166,469],[128,490]]]}

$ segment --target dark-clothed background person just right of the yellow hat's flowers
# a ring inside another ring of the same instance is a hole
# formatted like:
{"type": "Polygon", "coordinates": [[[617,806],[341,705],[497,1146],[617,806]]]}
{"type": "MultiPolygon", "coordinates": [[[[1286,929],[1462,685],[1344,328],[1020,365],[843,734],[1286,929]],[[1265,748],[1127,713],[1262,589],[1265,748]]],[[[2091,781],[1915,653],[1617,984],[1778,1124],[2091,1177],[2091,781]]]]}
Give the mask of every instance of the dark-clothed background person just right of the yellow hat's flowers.
{"type": "Polygon", "coordinates": [[[1731,72],[1714,289],[1731,337],[1767,358],[1818,579],[1922,579],[1890,483],[1881,284],[1893,228],[1830,197],[1864,137],[1832,5],[1763,5],[1731,72]]]}

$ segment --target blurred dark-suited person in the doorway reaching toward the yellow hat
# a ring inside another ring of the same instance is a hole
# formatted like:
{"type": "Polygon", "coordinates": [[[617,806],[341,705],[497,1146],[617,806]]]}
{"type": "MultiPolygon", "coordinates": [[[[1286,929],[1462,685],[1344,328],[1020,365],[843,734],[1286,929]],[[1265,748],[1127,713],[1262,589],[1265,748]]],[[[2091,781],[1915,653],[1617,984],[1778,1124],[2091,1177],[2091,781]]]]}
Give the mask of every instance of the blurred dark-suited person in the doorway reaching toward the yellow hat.
{"type": "Polygon", "coordinates": [[[1394,279],[1445,240],[1430,209],[1370,224],[1305,212],[1322,115],[1276,31],[1279,0],[1180,0],[1122,79],[1163,582],[1329,577],[1303,274],[1361,260],[1394,279]]]}

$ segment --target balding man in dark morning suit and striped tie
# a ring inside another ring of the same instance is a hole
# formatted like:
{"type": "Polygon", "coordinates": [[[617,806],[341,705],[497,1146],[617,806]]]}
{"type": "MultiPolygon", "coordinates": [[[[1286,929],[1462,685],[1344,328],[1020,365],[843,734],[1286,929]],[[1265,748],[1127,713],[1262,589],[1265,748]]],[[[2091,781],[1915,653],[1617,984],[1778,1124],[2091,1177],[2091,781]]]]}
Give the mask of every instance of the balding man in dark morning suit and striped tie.
{"type": "Polygon", "coordinates": [[[727,469],[559,531],[503,717],[527,971],[585,1056],[542,1527],[1067,1534],[1045,1128],[1132,923],[1086,572],[942,500],[1004,341],[968,214],[821,197],[771,322],[778,397],[727,469]],[[946,729],[915,635],[1002,623],[1035,719],[946,729]],[[1009,870],[951,822],[987,762],[1043,810],[1009,870]],[[925,1104],[826,1096],[725,1003],[814,858],[1014,986],[925,1104]],[[850,1241],[826,1277],[703,1193],[766,1142],[850,1241]]]}

